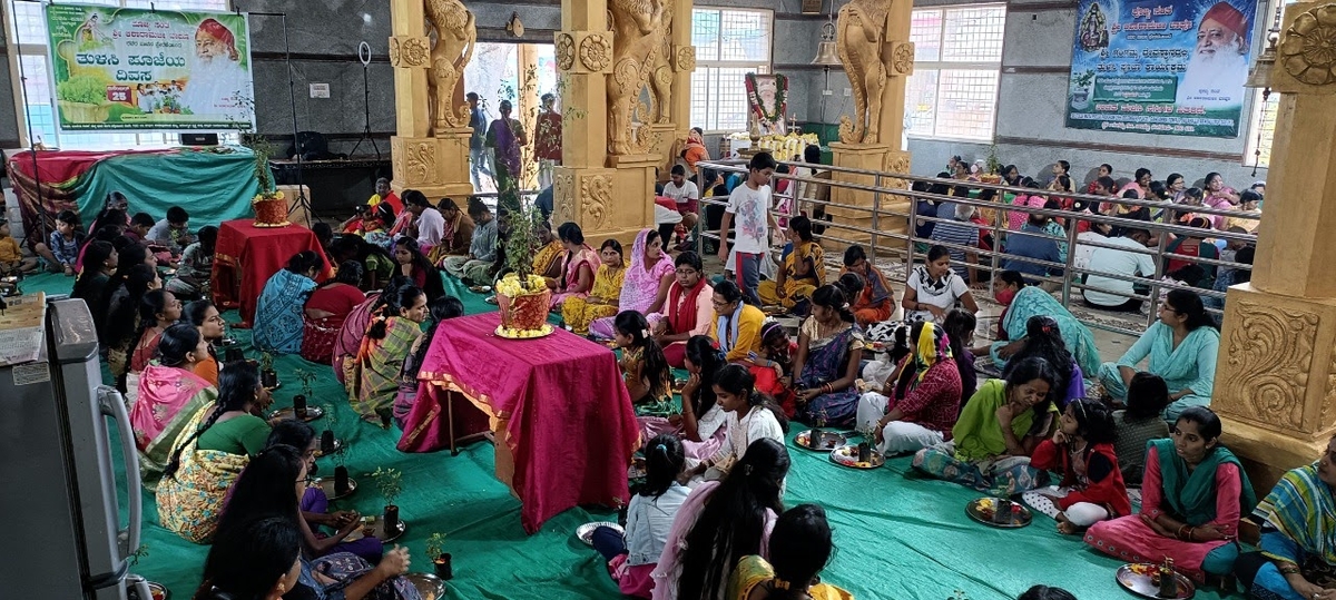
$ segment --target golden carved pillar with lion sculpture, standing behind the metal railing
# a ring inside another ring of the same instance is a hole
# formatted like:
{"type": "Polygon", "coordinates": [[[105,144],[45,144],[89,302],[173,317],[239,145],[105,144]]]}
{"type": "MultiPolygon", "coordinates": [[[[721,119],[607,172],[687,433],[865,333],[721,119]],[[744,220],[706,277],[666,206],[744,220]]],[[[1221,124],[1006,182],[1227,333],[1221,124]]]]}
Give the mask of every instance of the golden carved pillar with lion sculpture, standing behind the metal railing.
{"type": "MultiPolygon", "coordinates": [[[[904,131],[904,86],[914,72],[914,44],[910,37],[911,3],[851,0],[839,11],[836,47],[854,91],[855,115],[840,118],[840,142],[831,144],[834,164],[879,172],[907,174],[910,154],[900,148],[904,131]]],[[[836,182],[878,184],[871,175],[835,172],[836,182]]],[[[907,188],[903,179],[880,178],[880,187],[907,188]]],[[[907,231],[895,216],[874,216],[870,210],[907,212],[910,199],[902,195],[832,188],[831,202],[858,208],[827,207],[834,222],[886,233],[907,231]]],[[[834,229],[832,235],[867,245],[871,234],[834,229]]],[[[823,243],[839,250],[842,243],[823,243]]],[[[879,249],[903,247],[888,238],[879,249]]]]}

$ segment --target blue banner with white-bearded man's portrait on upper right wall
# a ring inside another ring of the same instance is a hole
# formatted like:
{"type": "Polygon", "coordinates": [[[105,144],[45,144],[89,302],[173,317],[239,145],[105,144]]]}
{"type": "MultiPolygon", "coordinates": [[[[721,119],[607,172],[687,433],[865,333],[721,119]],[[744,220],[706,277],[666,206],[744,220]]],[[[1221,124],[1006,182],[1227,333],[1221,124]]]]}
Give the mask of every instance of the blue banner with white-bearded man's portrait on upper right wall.
{"type": "Polygon", "coordinates": [[[1256,3],[1081,0],[1066,126],[1236,138],[1256,3]]]}

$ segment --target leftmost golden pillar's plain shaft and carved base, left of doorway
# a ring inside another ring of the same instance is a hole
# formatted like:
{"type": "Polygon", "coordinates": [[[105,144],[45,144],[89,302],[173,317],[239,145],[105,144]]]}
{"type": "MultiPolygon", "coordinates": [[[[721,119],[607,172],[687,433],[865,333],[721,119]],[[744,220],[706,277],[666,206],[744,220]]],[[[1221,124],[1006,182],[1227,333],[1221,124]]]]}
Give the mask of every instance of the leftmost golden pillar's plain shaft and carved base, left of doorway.
{"type": "MultiPolygon", "coordinates": [[[[390,64],[394,67],[394,114],[397,134],[390,138],[395,191],[411,188],[436,200],[466,198],[470,127],[434,127],[429,82],[432,40],[426,32],[424,0],[391,0],[390,64]]],[[[473,27],[472,17],[468,27],[473,27]]],[[[462,67],[460,68],[462,80],[462,67]]],[[[457,90],[452,91],[458,103],[457,90]]],[[[452,107],[448,107],[448,110],[452,107]]],[[[453,107],[457,110],[457,107],[453,107]]]]}

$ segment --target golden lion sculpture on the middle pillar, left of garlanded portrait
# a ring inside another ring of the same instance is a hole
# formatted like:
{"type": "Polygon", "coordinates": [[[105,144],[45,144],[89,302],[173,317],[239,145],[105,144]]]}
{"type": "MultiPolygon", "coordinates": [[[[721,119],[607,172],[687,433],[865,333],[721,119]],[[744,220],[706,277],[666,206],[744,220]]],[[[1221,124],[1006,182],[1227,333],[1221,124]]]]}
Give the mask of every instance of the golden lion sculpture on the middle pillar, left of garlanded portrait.
{"type": "Polygon", "coordinates": [[[640,92],[663,51],[671,0],[609,0],[612,16],[612,75],[608,76],[608,152],[645,154],[653,146],[649,130],[632,131],[640,92]]]}

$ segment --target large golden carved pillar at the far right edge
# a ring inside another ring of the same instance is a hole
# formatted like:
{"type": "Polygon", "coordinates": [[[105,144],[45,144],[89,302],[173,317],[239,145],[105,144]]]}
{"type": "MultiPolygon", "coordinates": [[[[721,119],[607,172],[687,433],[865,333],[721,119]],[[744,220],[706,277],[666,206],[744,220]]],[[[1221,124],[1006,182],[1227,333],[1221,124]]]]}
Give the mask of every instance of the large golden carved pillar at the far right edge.
{"type": "Polygon", "coordinates": [[[1319,51],[1336,44],[1333,13],[1332,3],[1285,7],[1257,269],[1225,302],[1212,409],[1263,493],[1317,458],[1336,432],[1336,247],[1328,243],[1336,227],[1336,57],[1319,51]]]}

